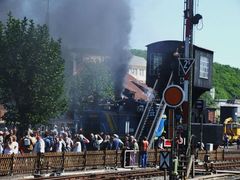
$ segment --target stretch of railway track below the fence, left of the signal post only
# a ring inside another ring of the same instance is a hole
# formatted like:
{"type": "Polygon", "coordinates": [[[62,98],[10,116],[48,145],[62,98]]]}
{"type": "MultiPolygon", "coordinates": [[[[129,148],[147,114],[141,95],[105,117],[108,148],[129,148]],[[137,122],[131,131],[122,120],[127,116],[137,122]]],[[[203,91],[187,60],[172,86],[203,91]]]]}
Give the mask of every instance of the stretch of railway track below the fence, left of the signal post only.
{"type": "Polygon", "coordinates": [[[40,180],[40,179],[52,179],[52,180],[121,180],[121,179],[140,179],[140,178],[151,178],[163,176],[163,171],[157,169],[138,169],[138,170],[125,170],[125,171],[111,171],[111,172],[101,172],[101,173],[84,173],[84,174],[74,174],[74,175],[59,175],[59,176],[49,176],[49,177],[35,177],[29,180],[40,180]]]}

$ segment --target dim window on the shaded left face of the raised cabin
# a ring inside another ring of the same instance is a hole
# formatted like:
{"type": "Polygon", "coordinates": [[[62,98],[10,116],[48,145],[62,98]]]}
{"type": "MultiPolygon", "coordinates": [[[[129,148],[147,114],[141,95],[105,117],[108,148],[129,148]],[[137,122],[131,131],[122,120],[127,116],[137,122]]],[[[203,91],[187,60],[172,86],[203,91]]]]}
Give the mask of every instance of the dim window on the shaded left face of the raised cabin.
{"type": "Polygon", "coordinates": [[[163,57],[159,53],[152,53],[149,62],[149,75],[157,75],[159,66],[162,65],[163,57]]]}

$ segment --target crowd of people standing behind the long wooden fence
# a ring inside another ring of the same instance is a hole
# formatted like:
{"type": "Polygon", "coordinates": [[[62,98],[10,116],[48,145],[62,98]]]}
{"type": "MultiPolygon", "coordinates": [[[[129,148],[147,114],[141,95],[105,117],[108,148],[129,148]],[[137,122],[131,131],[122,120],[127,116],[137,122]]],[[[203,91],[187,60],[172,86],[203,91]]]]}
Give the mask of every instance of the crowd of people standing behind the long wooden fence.
{"type": "Polygon", "coordinates": [[[45,152],[84,152],[86,150],[139,150],[138,142],[133,136],[126,135],[122,141],[117,134],[94,134],[85,137],[83,130],[72,134],[69,128],[41,133],[28,129],[22,137],[17,136],[17,128],[0,131],[0,154],[23,154],[45,152]]]}

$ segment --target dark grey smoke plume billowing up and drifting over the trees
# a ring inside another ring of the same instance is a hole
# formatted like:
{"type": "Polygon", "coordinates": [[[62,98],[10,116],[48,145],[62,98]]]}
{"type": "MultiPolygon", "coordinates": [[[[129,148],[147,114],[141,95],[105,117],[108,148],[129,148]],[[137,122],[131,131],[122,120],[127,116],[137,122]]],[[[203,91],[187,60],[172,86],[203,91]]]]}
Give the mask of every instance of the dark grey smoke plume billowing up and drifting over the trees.
{"type": "Polygon", "coordinates": [[[130,55],[131,16],[128,0],[0,0],[7,13],[49,24],[50,33],[69,48],[91,48],[111,57],[119,94],[130,55]],[[49,7],[49,8],[48,8],[49,7]]]}

